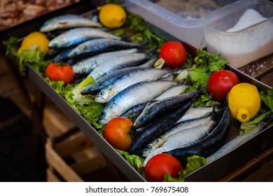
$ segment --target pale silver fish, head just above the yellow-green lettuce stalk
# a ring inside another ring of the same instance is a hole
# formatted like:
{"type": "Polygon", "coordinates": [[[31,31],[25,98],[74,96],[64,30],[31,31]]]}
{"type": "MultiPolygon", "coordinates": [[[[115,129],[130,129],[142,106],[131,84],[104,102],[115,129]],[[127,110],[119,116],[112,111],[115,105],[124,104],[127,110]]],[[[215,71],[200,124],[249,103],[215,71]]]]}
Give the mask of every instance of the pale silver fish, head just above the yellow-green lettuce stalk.
{"type": "Polygon", "coordinates": [[[127,54],[115,59],[107,59],[100,66],[97,66],[93,71],[91,71],[87,77],[92,77],[94,80],[97,80],[103,76],[109,75],[118,69],[137,66],[145,62],[147,59],[148,57],[144,53],[139,52],[127,54]]]}

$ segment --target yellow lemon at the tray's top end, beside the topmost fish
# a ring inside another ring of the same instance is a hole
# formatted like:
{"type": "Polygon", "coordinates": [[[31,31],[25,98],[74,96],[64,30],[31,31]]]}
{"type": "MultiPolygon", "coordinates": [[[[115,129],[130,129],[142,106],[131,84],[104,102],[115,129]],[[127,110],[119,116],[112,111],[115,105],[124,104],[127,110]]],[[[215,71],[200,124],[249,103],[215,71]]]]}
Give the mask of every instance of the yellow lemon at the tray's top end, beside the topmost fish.
{"type": "Polygon", "coordinates": [[[99,21],[111,29],[122,27],[126,20],[125,10],[116,4],[106,4],[98,8],[99,21]]]}

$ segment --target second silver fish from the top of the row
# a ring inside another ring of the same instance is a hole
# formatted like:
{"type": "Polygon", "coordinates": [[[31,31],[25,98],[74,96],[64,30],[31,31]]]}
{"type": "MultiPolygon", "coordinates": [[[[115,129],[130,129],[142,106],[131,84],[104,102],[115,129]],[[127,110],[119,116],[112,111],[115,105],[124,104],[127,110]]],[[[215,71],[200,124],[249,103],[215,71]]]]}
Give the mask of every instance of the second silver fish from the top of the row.
{"type": "Polygon", "coordinates": [[[119,36],[114,36],[113,34],[107,33],[105,31],[94,29],[94,28],[76,28],[69,31],[65,31],[63,34],[53,38],[50,43],[48,43],[49,48],[69,48],[71,46],[78,45],[85,41],[94,38],[112,38],[120,40],[119,36]]]}

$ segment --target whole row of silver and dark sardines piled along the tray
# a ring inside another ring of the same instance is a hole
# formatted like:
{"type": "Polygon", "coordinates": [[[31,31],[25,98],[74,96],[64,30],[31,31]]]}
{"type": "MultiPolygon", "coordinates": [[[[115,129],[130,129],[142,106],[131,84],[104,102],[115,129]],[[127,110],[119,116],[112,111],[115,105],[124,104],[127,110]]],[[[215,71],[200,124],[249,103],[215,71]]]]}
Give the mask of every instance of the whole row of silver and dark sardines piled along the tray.
{"type": "Polygon", "coordinates": [[[132,120],[137,136],[128,152],[146,157],[144,165],[158,153],[208,157],[223,146],[228,106],[217,123],[214,107],[192,106],[203,88],[184,93],[189,86],[174,80],[173,69],[155,69],[156,58],[143,52],[143,44],[124,41],[79,15],[52,18],[41,27],[59,30],[48,45],[53,61],[69,62],[77,78],[94,79],[81,94],[105,104],[99,124],[118,116],[132,120]]]}

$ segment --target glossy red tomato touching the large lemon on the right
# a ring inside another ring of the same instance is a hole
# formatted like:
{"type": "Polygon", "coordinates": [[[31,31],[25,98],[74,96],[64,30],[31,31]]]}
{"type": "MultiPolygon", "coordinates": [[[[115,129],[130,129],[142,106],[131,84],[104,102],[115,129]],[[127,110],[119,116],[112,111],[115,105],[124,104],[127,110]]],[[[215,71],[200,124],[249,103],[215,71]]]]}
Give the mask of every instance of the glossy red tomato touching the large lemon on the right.
{"type": "Polygon", "coordinates": [[[228,92],[239,82],[239,78],[234,72],[219,70],[212,73],[209,77],[207,90],[213,99],[218,102],[223,102],[228,92]]]}

